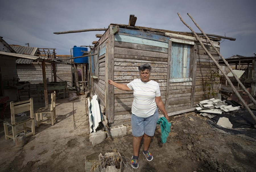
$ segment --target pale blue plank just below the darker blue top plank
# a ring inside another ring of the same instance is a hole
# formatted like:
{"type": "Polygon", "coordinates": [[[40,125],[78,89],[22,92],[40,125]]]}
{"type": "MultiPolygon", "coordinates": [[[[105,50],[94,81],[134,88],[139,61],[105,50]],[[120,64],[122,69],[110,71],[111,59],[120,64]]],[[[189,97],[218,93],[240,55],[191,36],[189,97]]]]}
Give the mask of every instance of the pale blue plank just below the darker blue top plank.
{"type": "Polygon", "coordinates": [[[149,40],[145,38],[139,38],[134,36],[127,36],[127,35],[115,35],[115,41],[121,41],[121,42],[130,42],[135,44],[143,44],[143,45],[151,45],[156,47],[163,47],[168,48],[168,43],[156,41],[156,40],[149,40]]]}

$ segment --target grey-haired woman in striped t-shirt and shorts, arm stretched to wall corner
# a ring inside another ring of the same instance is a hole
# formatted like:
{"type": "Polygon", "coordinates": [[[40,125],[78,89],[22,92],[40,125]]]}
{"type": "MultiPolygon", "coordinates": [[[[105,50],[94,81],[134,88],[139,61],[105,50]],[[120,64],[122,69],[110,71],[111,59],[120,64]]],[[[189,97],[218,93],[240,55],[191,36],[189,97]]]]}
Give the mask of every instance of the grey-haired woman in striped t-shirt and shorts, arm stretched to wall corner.
{"type": "Polygon", "coordinates": [[[148,161],[153,160],[152,154],[148,151],[151,137],[154,136],[156,122],[159,114],[158,108],[164,117],[170,122],[164,104],[161,99],[159,84],[150,80],[151,66],[144,64],[139,66],[140,79],[134,79],[127,85],[108,80],[110,85],[123,91],[133,91],[133,104],[131,125],[133,134],[133,156],[131,165],[138,168],[139,146],[143,138],[143,154],[148,161]]]}

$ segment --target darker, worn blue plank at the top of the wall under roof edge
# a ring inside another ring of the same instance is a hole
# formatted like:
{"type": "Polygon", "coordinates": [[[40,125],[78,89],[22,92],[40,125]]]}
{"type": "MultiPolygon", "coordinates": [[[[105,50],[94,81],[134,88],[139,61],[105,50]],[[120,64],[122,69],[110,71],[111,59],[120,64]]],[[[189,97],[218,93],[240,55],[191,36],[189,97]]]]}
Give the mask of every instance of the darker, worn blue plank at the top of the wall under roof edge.
{"type": "Polygon", "coordinates": [[[133,29],[125,29],[125,28],[119,28],[119,35],[127,35],[127,36],[134,36],[139,38],[145,38],[150,40],[156,40],[161,42],[168,43],[168,40],[170,39],[167,36],[157,35],[153,33],[147,33],[147,32],[141,32],[139,30],[133,30],[133,29]]]}

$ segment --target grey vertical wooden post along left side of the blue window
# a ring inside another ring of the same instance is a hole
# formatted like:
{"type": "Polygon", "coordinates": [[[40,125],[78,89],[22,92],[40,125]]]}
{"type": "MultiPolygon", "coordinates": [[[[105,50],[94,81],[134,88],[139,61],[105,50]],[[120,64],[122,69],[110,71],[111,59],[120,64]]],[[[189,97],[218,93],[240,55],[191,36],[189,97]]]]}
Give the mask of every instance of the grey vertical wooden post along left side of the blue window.
{"type": "Polygon", "coordinates": [[[166,78],[166,94],[165,94],[165,110],[168,113],[169,94],[170,94],[170,74],[171,74],[171,54],[172,41],[168,41],[168,60],[167,60],[167,78],[166,78]]]}

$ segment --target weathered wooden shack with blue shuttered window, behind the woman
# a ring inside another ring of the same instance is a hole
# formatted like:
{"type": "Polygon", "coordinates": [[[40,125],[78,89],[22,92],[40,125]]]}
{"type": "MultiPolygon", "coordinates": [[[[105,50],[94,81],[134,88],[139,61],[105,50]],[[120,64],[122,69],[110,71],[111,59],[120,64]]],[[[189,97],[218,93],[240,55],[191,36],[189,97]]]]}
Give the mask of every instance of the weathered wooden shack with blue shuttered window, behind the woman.
{"type": "MultiPolygon", "coordinates": [[[[209,38],[219,50],[221,39],[209,38]]],[[[200,39],[218,61],[218,54],[204,36],[200,39]]],[[[211,98],[219,95],[218,69],[191,34],[110,24],[91,49],[94,53],[97,55],[89,58],[94,78],[91,95],[98,95],[106,107],[110,126],[130,122],[133,92],[108,85],[108,79],[127,84],[139,78],[138,66],[145,63],[152,66],[150,79],[159,83],[169,116],[194,110],[199,101],[209,97],[209,89],[211,98]]]]}

